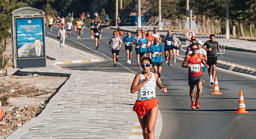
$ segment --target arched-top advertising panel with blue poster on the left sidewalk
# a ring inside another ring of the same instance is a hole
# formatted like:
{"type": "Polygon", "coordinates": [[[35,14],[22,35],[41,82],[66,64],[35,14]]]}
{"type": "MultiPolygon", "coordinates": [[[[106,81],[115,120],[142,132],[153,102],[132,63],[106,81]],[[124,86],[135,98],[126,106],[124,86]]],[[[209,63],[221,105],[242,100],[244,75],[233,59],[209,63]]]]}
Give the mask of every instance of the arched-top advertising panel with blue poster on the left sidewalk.
{"type": "Polygon", "coordinates": [[[24,7],[11,13],[14,68],[46,67],[44,12],[24,7]]]}

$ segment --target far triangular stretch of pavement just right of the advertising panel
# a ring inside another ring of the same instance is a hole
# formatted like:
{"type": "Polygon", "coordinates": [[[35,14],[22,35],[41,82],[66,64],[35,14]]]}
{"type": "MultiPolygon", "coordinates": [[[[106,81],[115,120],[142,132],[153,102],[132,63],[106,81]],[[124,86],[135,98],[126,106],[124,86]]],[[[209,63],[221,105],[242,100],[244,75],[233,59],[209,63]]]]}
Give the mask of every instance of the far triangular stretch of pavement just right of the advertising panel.
{"type": "Polygon", "coordinates": [[[46,56],[55,59],[47,61],[48,64],[72,64],[83,62],[99,62],[104,60],[98,56],[94,56],[87,52],[72,48],[67,44],[65,44],[65,47],[60,47],[60,42],[50,37],[45,38],[46,56]]]}

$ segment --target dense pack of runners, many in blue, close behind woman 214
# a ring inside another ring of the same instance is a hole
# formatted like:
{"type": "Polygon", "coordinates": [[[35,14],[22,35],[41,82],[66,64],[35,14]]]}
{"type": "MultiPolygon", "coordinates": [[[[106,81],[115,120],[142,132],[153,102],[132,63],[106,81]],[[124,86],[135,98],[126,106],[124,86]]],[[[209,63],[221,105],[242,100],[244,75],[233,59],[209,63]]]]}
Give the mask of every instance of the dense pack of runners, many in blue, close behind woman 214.
{"type": "Polygon", "coordinates": [[[133,37],[131,36],[131,32],[127,32],[127,36],[123,37],[123,32],[119,27],[117,31],[113,32],[113,37],[109,41],[109,47],[112,48],[111,52],[113,54],[114,66],[116,66],[116,62],[118,62],[121,44],[125,45],[127,64],[131,64],[133,46],[135,46],[137,66],[143,70],[141,60],[148,56],[152,59],[154,73],[158,74],[159,80],[161,81],[160,77],[163,66],[162,55],[165,55],[165,63],[172,66],[172,57],[174,58],[174,63],[176,63],[176,56],[179,56],[179,45],[181,41],[176,37],[176,33],[171,34],[170,30],[163,39],[161,39],[157,28],[154,28],[152,33],[151,30],[145,32],[142,27],[140,30],[138,29],[136,33],[137,35],[133,37]],[[162,41],[165,42],[164,47],[160,44],[162,41]]]}

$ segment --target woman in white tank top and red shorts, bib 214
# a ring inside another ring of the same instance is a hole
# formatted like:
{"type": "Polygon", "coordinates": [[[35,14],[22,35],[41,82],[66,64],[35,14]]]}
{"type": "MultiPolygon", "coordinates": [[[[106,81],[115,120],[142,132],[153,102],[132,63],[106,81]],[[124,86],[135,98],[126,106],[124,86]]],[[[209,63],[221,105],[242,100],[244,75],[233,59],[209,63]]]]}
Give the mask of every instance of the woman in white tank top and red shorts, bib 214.
{"type": "Polygon", "coordinates": [[[155,139],[154,127],[158,114],[158,101],[155,95],[155,87],[167,93],[167,89],[160,83],[157,73],[150,72],[152,60],[149,57],[142,58],[143,71],[137,74],[131,85],[131,93],[138,91],[137,101],[133,110],[137,113],[141,124],[143,138],[155,139]]]}

